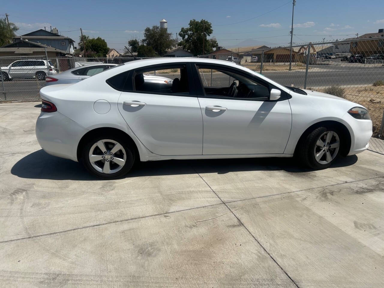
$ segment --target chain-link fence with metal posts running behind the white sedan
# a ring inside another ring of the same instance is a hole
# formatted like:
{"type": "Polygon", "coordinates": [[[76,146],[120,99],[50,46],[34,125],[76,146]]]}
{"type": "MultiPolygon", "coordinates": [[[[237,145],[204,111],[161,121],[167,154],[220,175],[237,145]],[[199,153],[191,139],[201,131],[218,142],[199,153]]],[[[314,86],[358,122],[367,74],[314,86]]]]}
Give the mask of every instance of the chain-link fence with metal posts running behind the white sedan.
{"type": "MultiPolygon", "coordinates": [[[[199,57],[232,61],[286,86],[333,94],[359,103],[371,114],[374,135],[382,136],[384,132],[384,37],[245,52],[218,50],[199,57]]],[[[121,64],[132,60],[133,57],[0,57],[0,100],[38,99],[40,88],[45,86],[45,76],[75,68],[83,62],[121,64]]],[[[226,75],[219,75],[218,71],[203,72],[207,85],[212,86],[213,80],[214,85],[223,87],[231,83],[228,76],[225,78],[226,75]]]]}

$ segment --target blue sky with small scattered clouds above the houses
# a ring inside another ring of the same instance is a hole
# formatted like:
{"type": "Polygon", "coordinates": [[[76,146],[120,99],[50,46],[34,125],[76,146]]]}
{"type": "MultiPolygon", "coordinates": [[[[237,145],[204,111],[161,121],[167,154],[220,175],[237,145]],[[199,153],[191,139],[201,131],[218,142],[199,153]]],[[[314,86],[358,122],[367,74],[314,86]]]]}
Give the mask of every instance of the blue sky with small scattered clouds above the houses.
{"type": "MultiPolygon", "coordinates": [[[[293,43],[351,38],[356,33],[375,33],[384,28],[384,2],[367,0],[297,0],[293,43]]],[[[80,28],[91,37],[104,38],[109,48],[122,52],[127,41],[142,39],[144,29],[165,18],[174,38],[189,20],[212,23],[218,44],[235,51],[238,46],[283,46],[290,42],[292,1],[2,1],[0,17],[26,34],[56,27],[59,33],[78,41],[80,28]]],[[[179,38],[180,39],[180,38],[179,38]]],[[[75,45],[76,46],[76,45],[75,45]]]]}

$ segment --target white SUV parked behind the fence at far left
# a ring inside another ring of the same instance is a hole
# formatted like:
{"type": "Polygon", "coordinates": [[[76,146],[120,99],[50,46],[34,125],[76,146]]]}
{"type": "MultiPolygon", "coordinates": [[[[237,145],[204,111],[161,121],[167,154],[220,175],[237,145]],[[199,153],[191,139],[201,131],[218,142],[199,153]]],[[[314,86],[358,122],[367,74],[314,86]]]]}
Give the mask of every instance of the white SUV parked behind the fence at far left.
{"type": "MultiPolygon", "coordinates": [[[[37,78],[44,80],[47,75],[57,74],[51,60],[25,59],[12,62],[1,68],[4,81],[16,78],[37,78]]],[[[1,81],[1,80],[0,80],[1,81]]]]}

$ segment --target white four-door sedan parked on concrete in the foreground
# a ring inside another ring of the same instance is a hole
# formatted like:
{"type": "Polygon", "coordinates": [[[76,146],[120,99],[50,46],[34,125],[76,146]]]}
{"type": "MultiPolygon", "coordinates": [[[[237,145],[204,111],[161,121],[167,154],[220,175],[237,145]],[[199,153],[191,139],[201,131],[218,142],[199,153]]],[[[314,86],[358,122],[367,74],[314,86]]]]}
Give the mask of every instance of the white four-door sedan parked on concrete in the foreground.
{"type": "Polygon", "coordinates": [[[135,161],[164,159],[297,156],[324,169],[367,149],[372,135],[361,105],[287,88],[229,61],[132,61],[40,95],[40,146],[104,179],[121,177],[135,161]],[[145,82],[155,70],[176,77],[145,82]]]}

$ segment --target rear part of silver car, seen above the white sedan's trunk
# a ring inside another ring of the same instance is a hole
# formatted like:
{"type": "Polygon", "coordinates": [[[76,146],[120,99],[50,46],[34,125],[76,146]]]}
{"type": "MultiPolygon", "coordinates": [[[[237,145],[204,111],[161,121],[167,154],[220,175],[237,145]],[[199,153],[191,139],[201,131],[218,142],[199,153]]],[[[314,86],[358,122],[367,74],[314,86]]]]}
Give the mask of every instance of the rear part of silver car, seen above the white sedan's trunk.
{"type": "Polygon", "coordinates": [[[76,83],[114,66],[117,66],[117,64],[94,64],[72,68],[56,74],[55,76],[46,76],[45,86],[76,83]]]}

